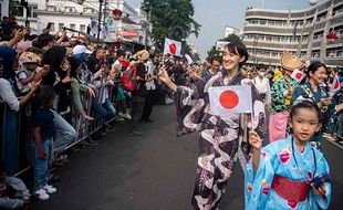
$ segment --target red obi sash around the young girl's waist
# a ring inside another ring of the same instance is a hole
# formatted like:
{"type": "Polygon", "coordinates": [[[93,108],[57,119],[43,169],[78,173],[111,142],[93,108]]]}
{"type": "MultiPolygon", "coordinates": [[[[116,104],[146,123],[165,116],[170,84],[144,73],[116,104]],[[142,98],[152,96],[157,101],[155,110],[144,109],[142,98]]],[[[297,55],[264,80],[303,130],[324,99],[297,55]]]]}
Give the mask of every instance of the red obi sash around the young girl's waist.
{"type": "Polygon", "coordinates": [[[305,181],[294,181],[276,175],[271,188],[284,200],[301,202],[308,199],[309,183],[305,181]]]}

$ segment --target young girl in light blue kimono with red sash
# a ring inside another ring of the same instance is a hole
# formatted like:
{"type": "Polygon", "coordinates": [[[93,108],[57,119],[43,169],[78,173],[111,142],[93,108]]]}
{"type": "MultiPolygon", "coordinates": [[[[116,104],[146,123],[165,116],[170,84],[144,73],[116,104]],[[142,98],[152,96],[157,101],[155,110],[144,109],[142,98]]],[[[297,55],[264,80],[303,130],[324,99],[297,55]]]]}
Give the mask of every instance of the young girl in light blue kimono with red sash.
{"type": "Polygon", "coordinates": [[[295,103],[289,126],[293,135],[262,147],[250,132],[252,158],[246,172],[247,210],[328,209],[331,198],[329,166],[310,144],[321,127],[321,111],[310,99],[295,103]]]}

